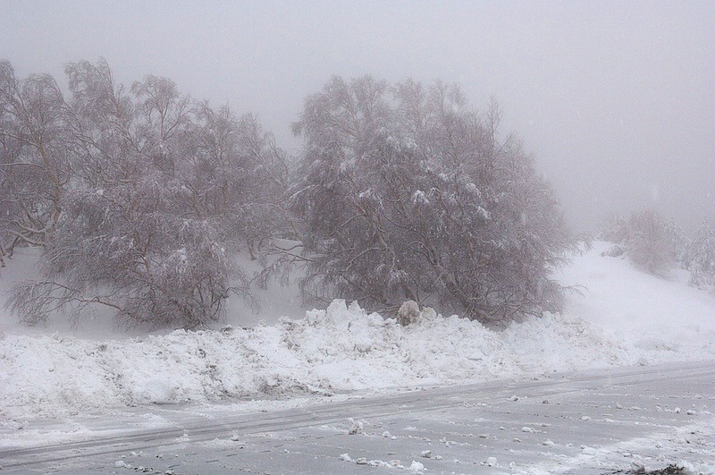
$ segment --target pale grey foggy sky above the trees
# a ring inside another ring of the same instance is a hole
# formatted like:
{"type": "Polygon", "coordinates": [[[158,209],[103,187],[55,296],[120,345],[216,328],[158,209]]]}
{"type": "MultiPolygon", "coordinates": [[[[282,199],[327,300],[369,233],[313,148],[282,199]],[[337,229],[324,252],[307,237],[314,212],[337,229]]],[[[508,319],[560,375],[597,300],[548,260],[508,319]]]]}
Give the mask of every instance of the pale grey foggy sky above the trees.
{"type": "Polygon", "coordinates": [[[290,123],[332,74],[458,82],[490,96],[570,224],[653,207],[687,232],[715,219],[715,2],[161,2],[4,0],[0,58],[17,74],[103,56],[290,123]]]}

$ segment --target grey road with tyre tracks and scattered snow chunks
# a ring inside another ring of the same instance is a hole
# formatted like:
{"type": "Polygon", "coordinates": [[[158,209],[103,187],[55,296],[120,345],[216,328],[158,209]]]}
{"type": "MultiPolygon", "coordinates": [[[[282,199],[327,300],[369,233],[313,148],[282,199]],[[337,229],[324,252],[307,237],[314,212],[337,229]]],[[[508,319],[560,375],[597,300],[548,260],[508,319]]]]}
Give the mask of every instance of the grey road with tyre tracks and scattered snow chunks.
{"type": "MultiPolygon", "coordinates": [[[[16,447],[0,448],[0,465],[3,473],[371,473],[421,466],[428,472],[613,473],[685,461],[710,471],[713,407],[713,361],[594,370],[321,399],[289,410],[138,410],[165,420],[161,428],[132,427],[136,418],[122,414],[78,417],[63,427],[81,424],[88,438],[55,445],[18,438],[16,447]],[[362,432],[349,434],[349,418],[362,432]]],[[[43,430],[38,424],[34,434],[43,430]]],[[[61,427],[44,424],[57,440],[61,427]]]]}

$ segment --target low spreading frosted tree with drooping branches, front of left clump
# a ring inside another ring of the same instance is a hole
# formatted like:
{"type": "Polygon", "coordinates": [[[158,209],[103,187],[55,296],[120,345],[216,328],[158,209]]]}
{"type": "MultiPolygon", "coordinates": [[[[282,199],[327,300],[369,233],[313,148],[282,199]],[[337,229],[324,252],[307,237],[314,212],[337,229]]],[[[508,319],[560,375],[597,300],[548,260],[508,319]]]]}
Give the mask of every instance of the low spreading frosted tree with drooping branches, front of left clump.
{"type": "Polygon", "coordinates": [[[171,195],[150,175],[73,187],[43,252],[45,280],[19,285],[15,310],[29,323],[55,307],[79,320],[92,304],[131,326],[190,328],[220,318],[231,291],[241,290],[239,269],[215,226],[182,218],[171,195]]]}

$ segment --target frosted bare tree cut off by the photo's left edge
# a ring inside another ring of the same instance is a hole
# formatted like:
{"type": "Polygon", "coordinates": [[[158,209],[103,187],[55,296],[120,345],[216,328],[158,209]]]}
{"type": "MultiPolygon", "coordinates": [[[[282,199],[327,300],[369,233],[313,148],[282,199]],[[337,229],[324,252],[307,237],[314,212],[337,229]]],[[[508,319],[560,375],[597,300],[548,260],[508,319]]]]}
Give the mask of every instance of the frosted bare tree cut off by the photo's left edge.
{"type": "Polygon", "coordinates": [[[15,77],[0,61],[0,267],[20,245],[42,245],[62,213],[74,143],[55,80],[15,77]]]}

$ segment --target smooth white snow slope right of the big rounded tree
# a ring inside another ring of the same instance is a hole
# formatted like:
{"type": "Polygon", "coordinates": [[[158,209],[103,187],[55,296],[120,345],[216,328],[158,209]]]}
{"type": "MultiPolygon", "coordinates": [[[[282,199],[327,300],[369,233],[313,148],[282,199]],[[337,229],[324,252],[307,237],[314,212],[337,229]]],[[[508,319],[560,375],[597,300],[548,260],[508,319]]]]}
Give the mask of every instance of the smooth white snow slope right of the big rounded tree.
{"type": "Polygon", "coordinates": [[[674,269],[651,276],[623,257],[601,257],[608,242],[566,267],[561,283],[583,285],[584,297],[570,295],[566,313],[622,340],[644,358],[696,360],[713,356],[715,293],[687,285],[689,274],[674,269]]]}

